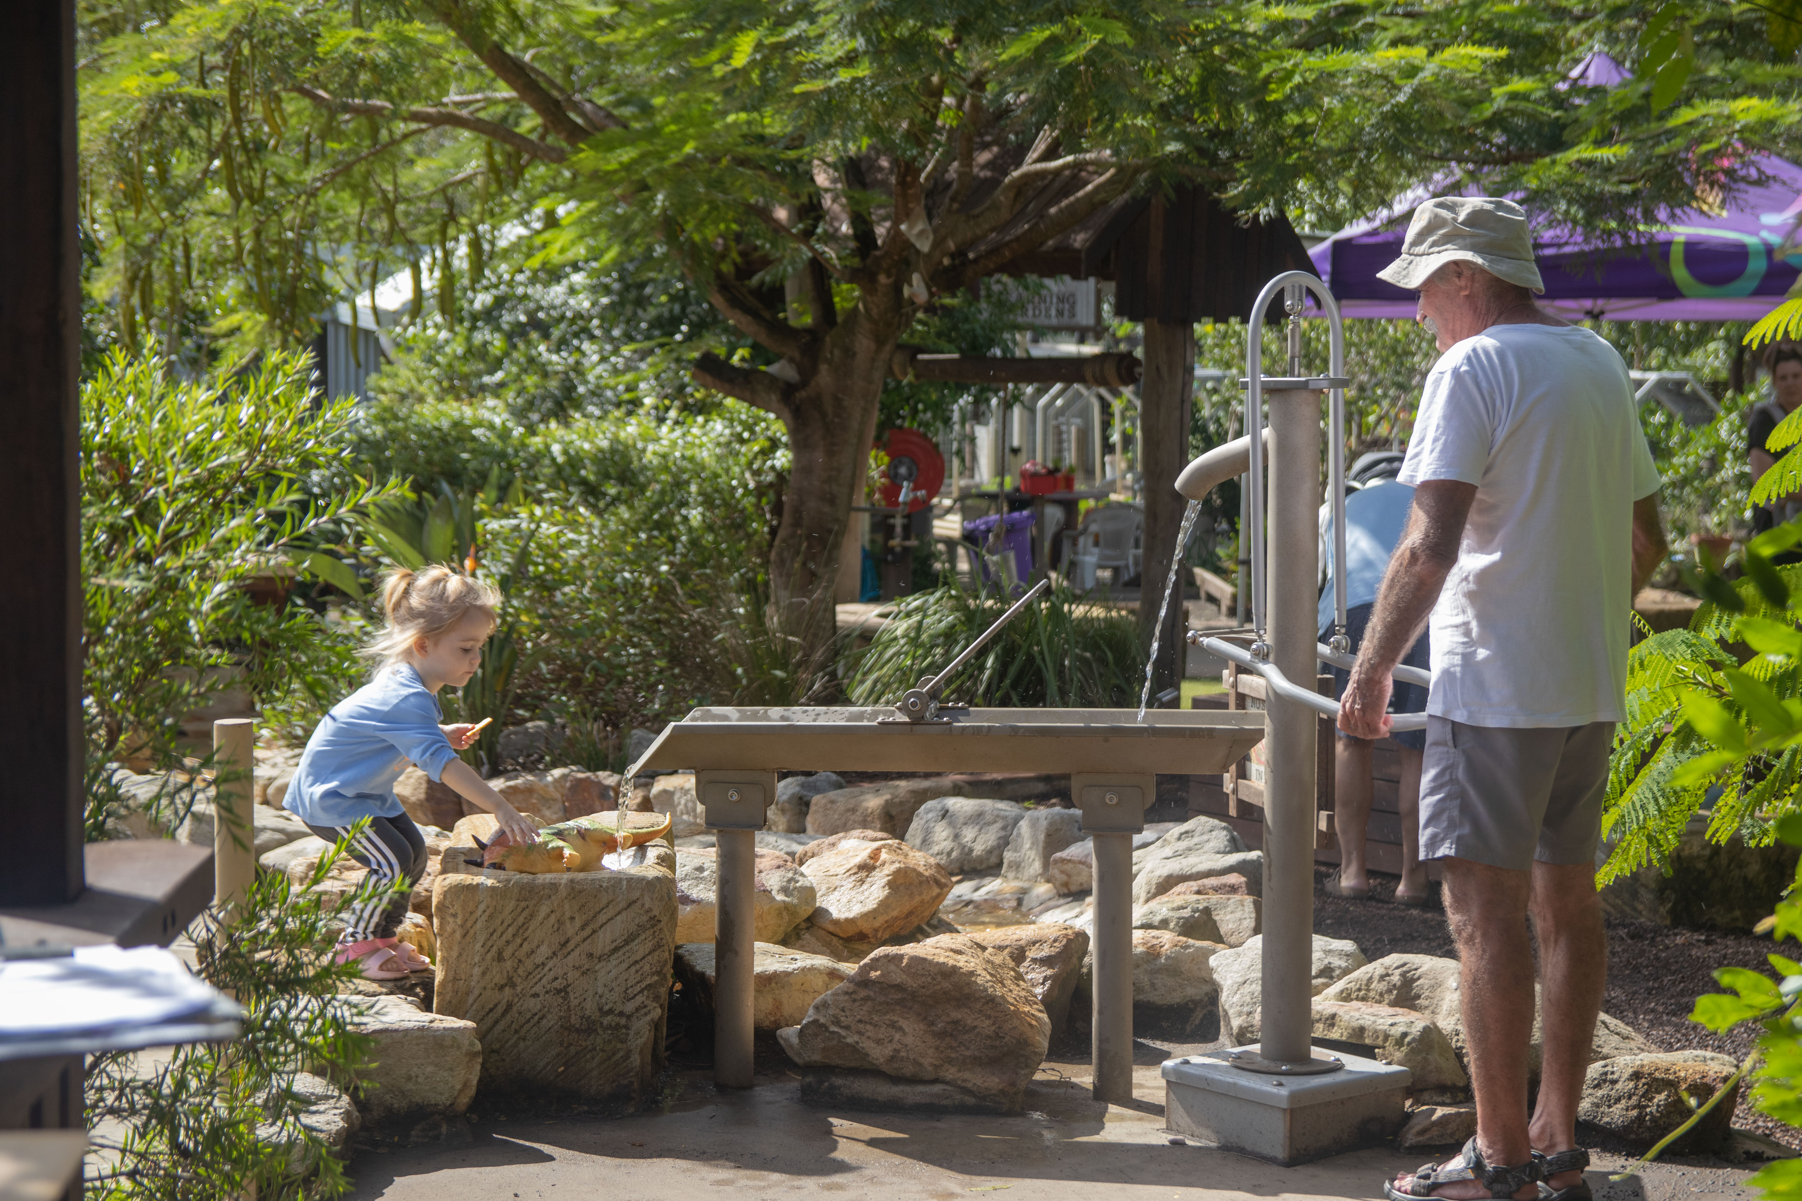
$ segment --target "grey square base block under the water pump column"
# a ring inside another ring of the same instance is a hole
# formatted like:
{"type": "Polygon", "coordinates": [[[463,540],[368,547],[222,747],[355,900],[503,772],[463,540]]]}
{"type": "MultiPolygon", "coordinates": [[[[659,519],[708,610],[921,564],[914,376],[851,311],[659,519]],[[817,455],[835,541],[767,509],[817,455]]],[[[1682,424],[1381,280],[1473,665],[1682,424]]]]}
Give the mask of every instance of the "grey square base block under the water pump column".
{"type": "Polygon", "coordinates": [[[1339,1071],[1265,1075],[1233,1066],[1231,1053],[1164,1062],[1164,1124],[1173,1133],[1288,1167],[1370,1147],[1402,1129],[1407,1068],[1339,1055],[1339,1071]]]}

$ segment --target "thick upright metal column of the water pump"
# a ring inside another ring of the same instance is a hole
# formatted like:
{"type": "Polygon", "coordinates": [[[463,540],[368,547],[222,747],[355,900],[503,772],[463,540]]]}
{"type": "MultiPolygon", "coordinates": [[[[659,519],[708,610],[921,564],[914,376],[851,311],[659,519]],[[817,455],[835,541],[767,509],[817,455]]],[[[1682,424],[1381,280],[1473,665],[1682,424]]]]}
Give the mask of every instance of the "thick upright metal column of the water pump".
{"type": "MultiPolygon", "coordinates": [[[[1312,681],[1321,394],[1270,398],[1270,587],[1263,589],[1270,659],[1292,681],[1312,681]]],[[[1258,470],[1252,456],[1252,470],[1258,470]]],[[[1265,713],[1263,805],[1263,1017],[1265,1059],[1303,1061],[1312,1044],[1314,960],[1314,735],[1299,704],[1265,713]]]]}

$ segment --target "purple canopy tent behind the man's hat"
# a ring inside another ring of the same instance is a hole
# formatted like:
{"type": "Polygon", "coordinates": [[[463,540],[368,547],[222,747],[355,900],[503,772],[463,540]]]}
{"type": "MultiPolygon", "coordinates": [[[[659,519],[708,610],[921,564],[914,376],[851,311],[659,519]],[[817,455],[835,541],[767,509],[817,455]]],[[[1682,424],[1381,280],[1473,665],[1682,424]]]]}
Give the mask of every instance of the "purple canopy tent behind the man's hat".
{"type": "MultiPolygon", "coordinates": [[[[1570,83],[1615,86],[1627,77],[1615,59],[1591,54],[1570,83]]],[[[1741,189],[1728,211],[1688,209],[1669,223],[1647,225],[1643,239],[1625,250],[1598,256],[1600,243],[1580,230],[1546,230],[1535,243],[1544,306],[1571,319],[1611,321],[1757,321],[1770,313],[1802,268],[1802,247],[1789,241],[1802,214],[1802,167],[1773,155],[1757,164],[1768,182],[1741,189]]],[[[1415,207],[1433,194],[1409,193],[1308,252],[1341,313],[1415,315],[1415,295],[1382,283],[1377,272],[1400,254],[1415,207]]]]}

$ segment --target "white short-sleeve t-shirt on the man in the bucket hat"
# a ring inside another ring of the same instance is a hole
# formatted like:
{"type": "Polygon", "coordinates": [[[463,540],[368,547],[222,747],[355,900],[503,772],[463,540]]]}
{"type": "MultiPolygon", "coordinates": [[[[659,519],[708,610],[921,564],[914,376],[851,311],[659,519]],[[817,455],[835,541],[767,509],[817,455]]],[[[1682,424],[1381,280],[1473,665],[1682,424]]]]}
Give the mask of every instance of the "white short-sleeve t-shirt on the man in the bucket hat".
{"type": "Polygon", "coordinates": [[[1427,713],[1624,720],[1633,502],[1658,492],[1627,366],[1580,326],[1490,326],[1427,375],[1404,484],[1476,484],[1433,609],[1427,713]]]}

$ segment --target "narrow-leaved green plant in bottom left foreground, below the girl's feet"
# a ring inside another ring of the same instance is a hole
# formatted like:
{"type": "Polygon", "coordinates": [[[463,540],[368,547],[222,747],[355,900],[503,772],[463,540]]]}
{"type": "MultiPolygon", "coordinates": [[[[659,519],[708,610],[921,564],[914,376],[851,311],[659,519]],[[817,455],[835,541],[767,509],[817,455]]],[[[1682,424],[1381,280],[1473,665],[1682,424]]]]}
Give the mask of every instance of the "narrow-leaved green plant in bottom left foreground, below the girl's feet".
{"type": "Polygon", "coordinates": [[[351,1088],[371,1046],[332,1003],[359,969],[330,958],[341,913],[366,897],[326,904],[306,891],[335,859],[335,850],[321,855],[301,886],[261,873],[232,926],[213,913],[198,924],[198,974],[243,1007],[240,1037],[182,1044],[168,1059],[115,1052],[88,1061],[86,1124],[101,1167],[90,1169],[86,1197],[297,1201],[348,1192],[342,1163],[301,1122],[310,1102],[294,1088],[303,1071],[351,1088]]]}

